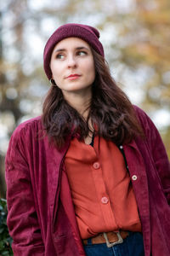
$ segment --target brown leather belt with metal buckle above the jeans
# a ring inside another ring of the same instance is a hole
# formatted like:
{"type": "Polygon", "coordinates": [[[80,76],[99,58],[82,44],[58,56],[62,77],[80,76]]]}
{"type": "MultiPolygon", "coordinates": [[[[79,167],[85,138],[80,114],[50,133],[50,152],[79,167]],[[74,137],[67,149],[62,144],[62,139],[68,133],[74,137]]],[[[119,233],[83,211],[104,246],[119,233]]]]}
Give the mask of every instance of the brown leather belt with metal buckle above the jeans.
{"type": "MultiPolygon", "coordinates": [[[[97,236],[91,237],[92,244],[105,243],[107,247],[112,247],[116,244],[122,243],[123,239],[125,239],[129,235],[128,231],[120,230],[119,232],[104,232],[100,233],[97,236]]],[[[88,245],[88,239],[82,240],[84,245],[88,245]]]]}

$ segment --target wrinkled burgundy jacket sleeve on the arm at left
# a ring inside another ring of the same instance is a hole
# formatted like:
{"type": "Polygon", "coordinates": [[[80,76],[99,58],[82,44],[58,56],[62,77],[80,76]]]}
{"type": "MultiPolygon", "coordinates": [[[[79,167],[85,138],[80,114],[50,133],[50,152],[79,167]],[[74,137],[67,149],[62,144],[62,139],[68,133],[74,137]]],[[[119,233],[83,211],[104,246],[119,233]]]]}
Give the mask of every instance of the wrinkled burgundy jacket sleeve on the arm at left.
{"type": "Polygon", "coordinates": [[[6,183],[8,203],[8,230],[13,238],[15,256],[43,256],[44,244],[37,220],[31,188],[29,166],[26,161],[20,126],[10,139],[6,154],[6,183]]]}

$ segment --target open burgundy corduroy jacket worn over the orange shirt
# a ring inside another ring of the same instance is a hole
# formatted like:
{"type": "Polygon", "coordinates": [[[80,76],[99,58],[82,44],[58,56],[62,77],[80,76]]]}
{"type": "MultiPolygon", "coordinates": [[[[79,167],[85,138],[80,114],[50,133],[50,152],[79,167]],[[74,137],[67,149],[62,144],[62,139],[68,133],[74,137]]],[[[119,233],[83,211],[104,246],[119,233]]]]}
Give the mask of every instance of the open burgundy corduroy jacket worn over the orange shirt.
{"type": "MultiPolygon", "coordinates": [[[[123,145],[144,236],[144,255],[170,255],[170,167],[155,125],[135,108],[147,139],[123,145]],[[135,177],[135,178],[134,178],[135,177]],[[137,178],[136,178],[137,177],[137,178]]],[[[65,148],[37,139],[41,118],[19,125],[6,156],[8,230],[15,256],[85,255],[64,172],[65,148]]]]}

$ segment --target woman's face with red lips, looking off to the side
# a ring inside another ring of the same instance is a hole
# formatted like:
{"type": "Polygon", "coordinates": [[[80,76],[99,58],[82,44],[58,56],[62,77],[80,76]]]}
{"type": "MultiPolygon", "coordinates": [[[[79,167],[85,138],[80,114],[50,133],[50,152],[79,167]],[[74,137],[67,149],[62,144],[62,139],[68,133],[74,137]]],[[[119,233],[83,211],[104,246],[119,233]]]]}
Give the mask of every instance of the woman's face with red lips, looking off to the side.
{"type": "Polygon", "coordinates": [[[56,44],[50,67],[64,96],[91,90],[95,79],[94,56],[88,43],[82,39],[65,38],[56,44]]]}

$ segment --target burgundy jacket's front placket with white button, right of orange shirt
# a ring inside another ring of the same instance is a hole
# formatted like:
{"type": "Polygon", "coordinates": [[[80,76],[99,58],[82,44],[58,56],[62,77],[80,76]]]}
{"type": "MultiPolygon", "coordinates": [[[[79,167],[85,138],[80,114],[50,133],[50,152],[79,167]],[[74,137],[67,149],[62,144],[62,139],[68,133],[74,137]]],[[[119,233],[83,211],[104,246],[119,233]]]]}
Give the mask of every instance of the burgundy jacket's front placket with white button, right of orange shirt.
{"type": "MultiPolygon", "coordinates": [[[[144,143],[140,140],[139,143],[144,143]]],[[[127,159],[128,171],[133,184],[133,190],[139,207],[139,216],[143,227],[144,247],[150,248],[150,201],[148,189],[148,177],[143,160],[143,152],[133,140],[123,146],[127,159]]],[[[146,148],[145,148],[146,150],[146,148]]]]}

